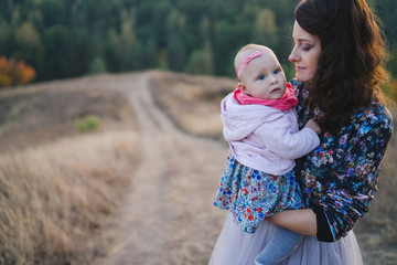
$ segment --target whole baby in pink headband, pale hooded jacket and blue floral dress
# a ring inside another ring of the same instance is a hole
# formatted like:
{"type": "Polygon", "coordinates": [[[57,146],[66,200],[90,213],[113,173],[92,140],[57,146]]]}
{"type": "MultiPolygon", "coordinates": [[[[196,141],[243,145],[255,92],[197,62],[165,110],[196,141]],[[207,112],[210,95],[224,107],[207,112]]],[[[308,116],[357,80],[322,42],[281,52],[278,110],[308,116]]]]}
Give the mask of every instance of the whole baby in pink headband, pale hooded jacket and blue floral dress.
{"type": "MultiPolygon", "coordinates": [[[[224,138],[229,152],[214,204],[228,210],[247,233],[286,209],[304,208],[296,180],[294,159],[319,146],[314,120],[298,129],[298,99],[275,53],[248,44],[235,57],[238,85],[222,100],[224,138]]],[[[278,227],[256,264],[288,257],[303,235],[278,227]]]]}

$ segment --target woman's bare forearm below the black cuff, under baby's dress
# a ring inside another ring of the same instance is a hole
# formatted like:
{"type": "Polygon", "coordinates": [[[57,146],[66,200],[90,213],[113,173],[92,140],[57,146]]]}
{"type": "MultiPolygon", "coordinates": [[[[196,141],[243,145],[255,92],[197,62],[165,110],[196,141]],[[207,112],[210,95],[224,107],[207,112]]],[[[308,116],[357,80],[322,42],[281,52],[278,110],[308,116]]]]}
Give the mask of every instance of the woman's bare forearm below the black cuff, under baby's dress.
{"type": "Polygon", "coordinates": [[[316,235],[316,216],[311,209],[285,210],[276,213],[268,221],[300,234],[316,235]]]}

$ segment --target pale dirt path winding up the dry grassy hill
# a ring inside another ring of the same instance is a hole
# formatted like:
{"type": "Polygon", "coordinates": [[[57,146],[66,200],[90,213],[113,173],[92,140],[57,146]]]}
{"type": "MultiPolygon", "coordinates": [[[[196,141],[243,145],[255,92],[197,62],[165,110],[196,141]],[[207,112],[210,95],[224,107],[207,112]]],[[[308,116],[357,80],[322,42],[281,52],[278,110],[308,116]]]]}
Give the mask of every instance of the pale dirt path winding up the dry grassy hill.
{"type": "Polygon", "coordinates": [[[225,213],[212,206],[226,147],[173,126],[153,103],[148,81],[120,78],[137,115],[142,162],[109,233],[116,239],[95,264],[207,264],[225,213]]]}

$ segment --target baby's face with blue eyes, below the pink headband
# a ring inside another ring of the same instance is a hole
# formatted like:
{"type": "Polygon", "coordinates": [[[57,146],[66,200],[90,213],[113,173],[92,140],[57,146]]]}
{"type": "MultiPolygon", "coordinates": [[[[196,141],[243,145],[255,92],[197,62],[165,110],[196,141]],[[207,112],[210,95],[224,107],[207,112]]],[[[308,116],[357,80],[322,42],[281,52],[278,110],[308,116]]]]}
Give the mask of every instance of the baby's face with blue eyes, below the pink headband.
{"type": "Polygon", "coordinates": [[[287,88],[286,75],[273,53],[265,53],[249,62],[240,76],[242,91],[251,97],[278,99],[287,88]]]}

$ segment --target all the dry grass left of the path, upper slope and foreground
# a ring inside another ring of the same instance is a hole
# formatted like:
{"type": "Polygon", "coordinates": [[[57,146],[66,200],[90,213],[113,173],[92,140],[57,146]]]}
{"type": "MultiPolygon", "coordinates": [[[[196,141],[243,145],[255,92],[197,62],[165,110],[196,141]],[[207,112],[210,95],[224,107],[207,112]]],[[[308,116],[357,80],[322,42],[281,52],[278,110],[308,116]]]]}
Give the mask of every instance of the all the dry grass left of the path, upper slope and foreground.
{"type": "Polygon", "coordinates": [[[104,83],[0,92],[0,264],[88,264],[104,255],[110,239],[98,234],[139,162],[131,107],[104,83]],[[76,120],[93,115],[100,126],[79,134],[76,120]]]}

